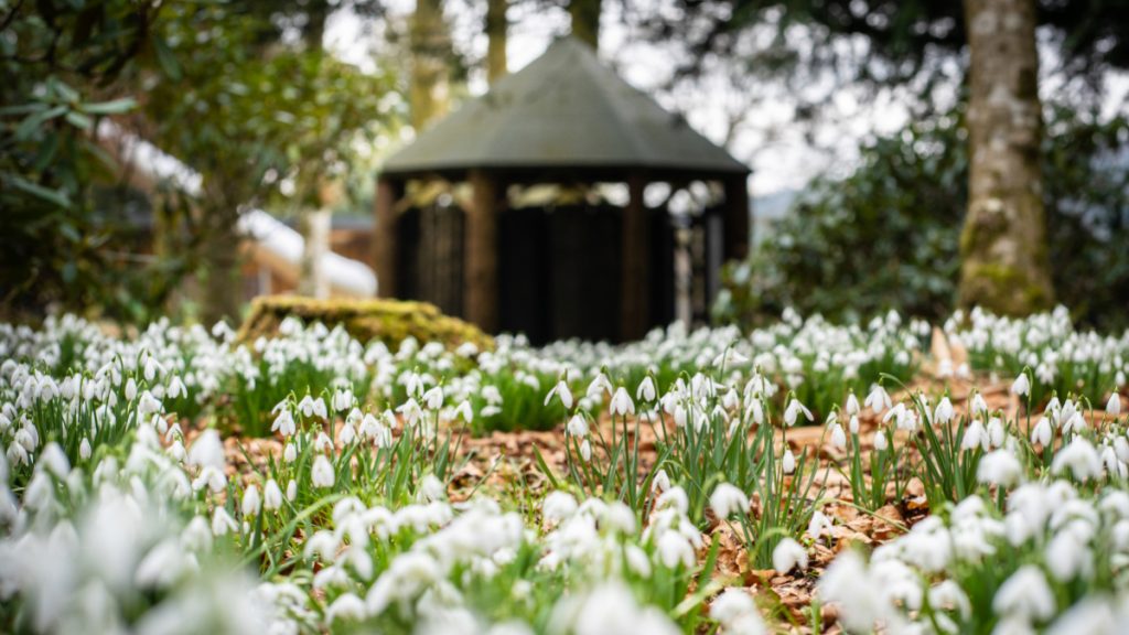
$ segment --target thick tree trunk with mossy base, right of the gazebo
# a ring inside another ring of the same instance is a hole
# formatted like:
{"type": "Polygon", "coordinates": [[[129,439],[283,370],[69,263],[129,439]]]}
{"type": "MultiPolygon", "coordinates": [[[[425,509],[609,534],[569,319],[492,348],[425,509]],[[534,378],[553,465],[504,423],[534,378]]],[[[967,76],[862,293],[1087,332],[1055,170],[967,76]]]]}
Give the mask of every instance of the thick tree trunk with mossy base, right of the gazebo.
{"type": "Polygon", "coordinates": [[[1039,145],[1034,0],[965,0],[969,211],[960,303],[1019,315],[1054,301],[1039,145]]]}

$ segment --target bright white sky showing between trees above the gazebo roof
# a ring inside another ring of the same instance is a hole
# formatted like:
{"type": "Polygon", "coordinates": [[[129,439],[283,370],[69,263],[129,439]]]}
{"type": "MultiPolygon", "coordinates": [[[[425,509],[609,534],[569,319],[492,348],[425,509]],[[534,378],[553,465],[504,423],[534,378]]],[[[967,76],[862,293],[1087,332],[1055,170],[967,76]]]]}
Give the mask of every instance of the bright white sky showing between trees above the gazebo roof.
{"type": "MultiPolygon", "coordinates": [[[[452,24],[455,46],[474,59],[483,59],[487,37],[482,32],[484,2],[448,1],[446,16],[452,24]]],[[[510,72],[519,70],[541,55],[554,37],[568,33],[568,16],[560,9],[534,9],[524,2],[510,7],[507,56],[510,72]]],[[[601,21],[601,58],[612,63],[630,84],[654,95],[667,110],[685,114],[699,132],[717,143],[724,143],[727,121],[734,113],[744,113],[728,143],[729,151],[753,168],[751,190],[763,197],[786,189],[798,189],[824,172],[846,174],[858,157],[860,140],[869,134],[900,129],[908,113],[900,104],[898,90],[883,90],[876,97],[863,90],[840,88],[834,92],[832,106],[821,112],[814,129],[797,123],[793,115],[793,97],[784,86],[758,85],[760,99],[749,103],[749,90],[735,89],[721,76],[709,75],[693,92],[656,94],[671,72],[673,53],[660,45],[638,42],[618,15],[623,3],[604,2],[601,21]]],[[[392,20],[403,20],[414,7],[414,0],[393,0],[392,20]]],[[[338,11],[329,20],[325,44],[340,58],[373,68],[373,51],[383,42],[384,25],[366,25],[356,15],[338,11]]],[[[849,44],[848,44],[849,45],[849,44]]],[[[1044,47],[1048,49],[1049,47],[1044,47]]],[[[1043,58],[1047,58],[1043,51],[1043,58]]],[[[1045,66],[1045,64],[1044,64],[1045,66]]],[[[406,72],[406,69],[404,70],[406,72]]],[[[716,73],[715,73],[716,75],[716,73]]],[[[813,81],[812,90],[829,90],[830,80],[813,81]]],[[[1061,81],[1043,81],[1041,88],[1053,90],[1061,81]]],[[[1111,79],[1110,103],[1123,107],[1129,95],[1129,77],[1111,79]]],[[[472,95],[487,90],[481,70],[472,72],[469,87],[472,95]]],[[[455,105],[457,107],[457,104],[455,105]]]]}

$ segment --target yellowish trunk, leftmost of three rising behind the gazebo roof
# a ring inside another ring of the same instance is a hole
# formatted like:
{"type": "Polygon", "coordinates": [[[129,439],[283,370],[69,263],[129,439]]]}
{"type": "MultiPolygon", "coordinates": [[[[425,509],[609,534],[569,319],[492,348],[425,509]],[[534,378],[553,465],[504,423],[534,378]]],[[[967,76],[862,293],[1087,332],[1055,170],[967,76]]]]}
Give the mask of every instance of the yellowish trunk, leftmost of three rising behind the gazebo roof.
{"type": "Polygon", "coordinates": [[[411,47],[412,127],[418,132],[447,112],[450,34],[443,19],[443,0],[415,0],[411,47]]]}

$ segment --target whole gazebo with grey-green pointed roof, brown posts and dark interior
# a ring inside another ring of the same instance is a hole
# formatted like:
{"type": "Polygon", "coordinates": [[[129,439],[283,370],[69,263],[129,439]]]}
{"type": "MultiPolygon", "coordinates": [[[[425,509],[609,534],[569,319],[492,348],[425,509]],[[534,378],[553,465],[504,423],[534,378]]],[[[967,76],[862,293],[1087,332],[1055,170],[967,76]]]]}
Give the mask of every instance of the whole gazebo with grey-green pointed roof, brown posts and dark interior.
{"type": "Polygon", "coordinates": [[[535,343],[623,341],[677,316],[681,243],[701,319],[721,262],[747,252],[747,176],[587,45],[560,40],[386,162],[376,197],[379,294],[432,302],[535,343]],[[647,206],[653,183],[672,193],[699,183],[718,195],[694,214],[671,214],[669,195],[647,206]],[[552,195],[522,201],[545,184],[557,186],[552,195]],[[607,184],[625,186],[622,205],[599,195],[607,184]]]}

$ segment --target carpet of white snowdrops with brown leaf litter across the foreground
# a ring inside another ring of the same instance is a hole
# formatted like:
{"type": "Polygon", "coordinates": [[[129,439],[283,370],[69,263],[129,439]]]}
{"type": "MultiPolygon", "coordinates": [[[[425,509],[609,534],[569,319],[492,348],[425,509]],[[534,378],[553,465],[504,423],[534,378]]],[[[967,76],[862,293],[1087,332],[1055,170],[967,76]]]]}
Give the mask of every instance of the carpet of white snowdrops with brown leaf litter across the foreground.
{"type": "Polygon", "coordinates": [[[1129,632],[1129,333],[1061,310],[0,360],[0,632],[1129,632]]]}

